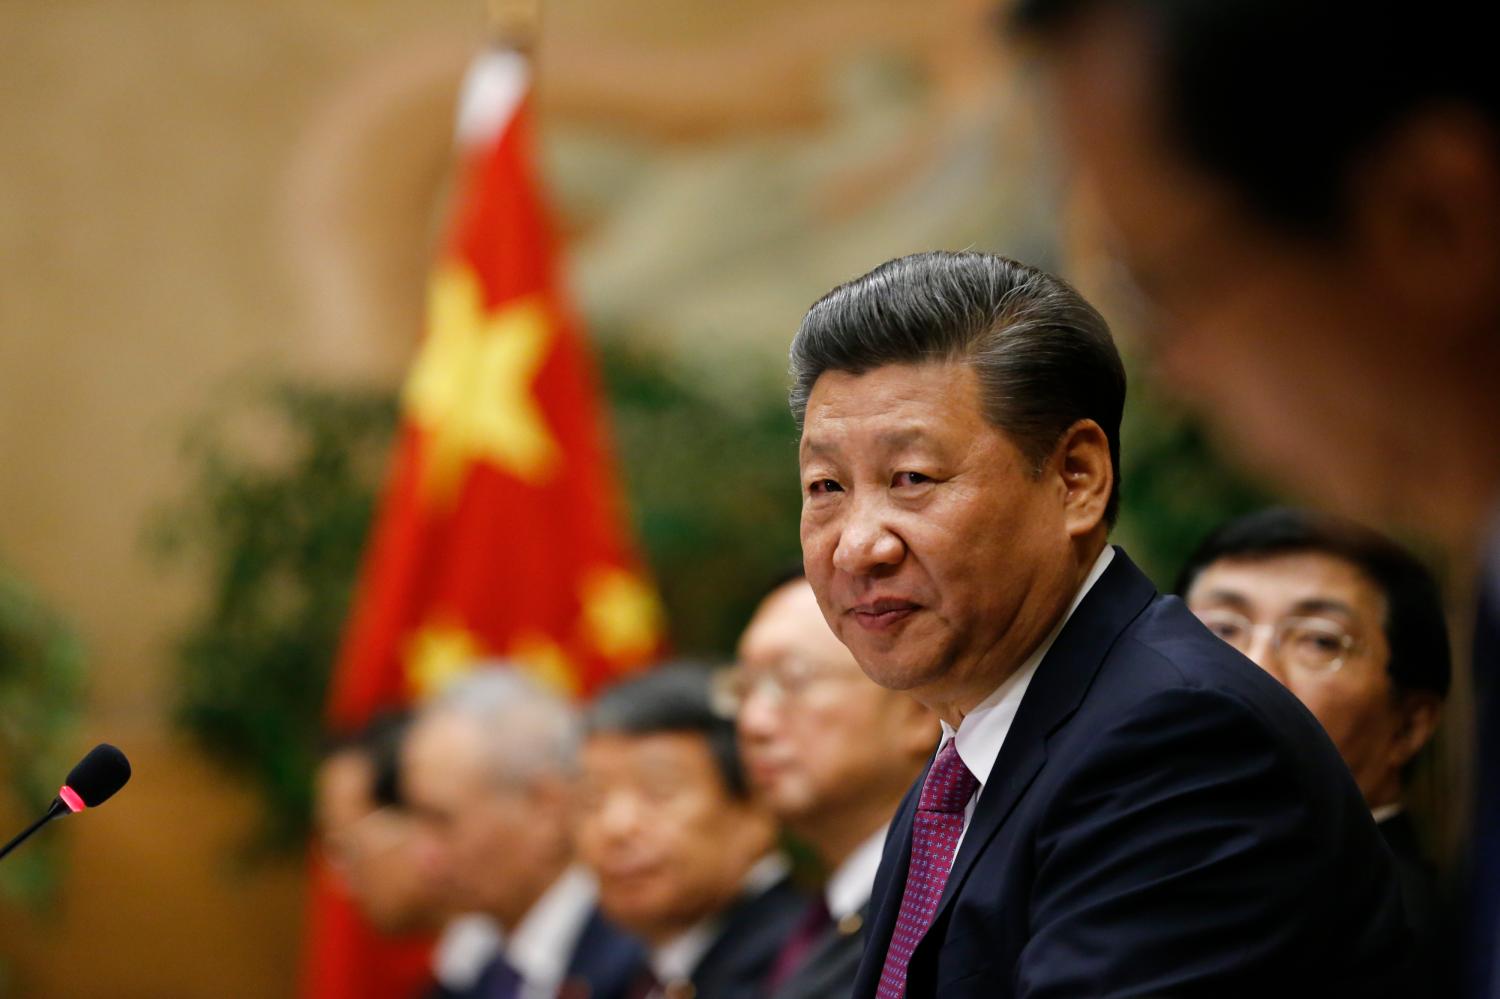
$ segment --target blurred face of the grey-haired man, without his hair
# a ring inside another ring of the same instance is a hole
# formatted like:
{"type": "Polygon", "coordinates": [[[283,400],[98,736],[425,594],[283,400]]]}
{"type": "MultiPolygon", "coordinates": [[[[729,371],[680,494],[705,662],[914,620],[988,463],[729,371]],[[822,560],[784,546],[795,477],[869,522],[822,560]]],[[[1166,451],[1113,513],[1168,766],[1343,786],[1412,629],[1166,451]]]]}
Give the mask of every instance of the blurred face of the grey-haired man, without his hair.
{"type": "Polygon", "coordinates": [[[404,794],[428,876],[453,909],[518,921],[538,888],[538,840],[564,832],[550,828],[550,810],[528,788],[496,780],[470,718],[422,718],[404,750],[404,794]]]}

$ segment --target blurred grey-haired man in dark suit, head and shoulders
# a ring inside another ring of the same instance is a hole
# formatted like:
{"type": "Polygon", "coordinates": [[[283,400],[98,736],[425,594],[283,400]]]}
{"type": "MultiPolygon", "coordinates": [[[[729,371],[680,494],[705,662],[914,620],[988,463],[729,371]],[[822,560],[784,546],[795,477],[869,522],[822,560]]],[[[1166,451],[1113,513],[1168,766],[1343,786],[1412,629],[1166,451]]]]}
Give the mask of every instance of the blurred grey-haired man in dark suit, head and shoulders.
{"type": "Polygon", "coordinates": [[[570,705],[498,664],[417,717],[402,782],[428,872],[454,910],[500,927],[489,952],[447,956],[440,996],[616,994],[638,966],[639,945],[603,920],[573,864],[578,740],[570,705]]]}

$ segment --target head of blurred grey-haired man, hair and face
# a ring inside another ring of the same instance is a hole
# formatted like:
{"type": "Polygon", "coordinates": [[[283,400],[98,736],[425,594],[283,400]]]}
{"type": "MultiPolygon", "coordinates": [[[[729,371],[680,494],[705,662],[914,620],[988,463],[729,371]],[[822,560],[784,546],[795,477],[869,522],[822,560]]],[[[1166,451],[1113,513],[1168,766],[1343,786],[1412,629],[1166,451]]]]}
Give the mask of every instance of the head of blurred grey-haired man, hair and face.
{"type": "Polygon", "coordinates": [[[402,789],[426,870],[453,909],[514,927],[567,866],[578,740],[573,708],[504,663],[422,710],[402,789]]]}

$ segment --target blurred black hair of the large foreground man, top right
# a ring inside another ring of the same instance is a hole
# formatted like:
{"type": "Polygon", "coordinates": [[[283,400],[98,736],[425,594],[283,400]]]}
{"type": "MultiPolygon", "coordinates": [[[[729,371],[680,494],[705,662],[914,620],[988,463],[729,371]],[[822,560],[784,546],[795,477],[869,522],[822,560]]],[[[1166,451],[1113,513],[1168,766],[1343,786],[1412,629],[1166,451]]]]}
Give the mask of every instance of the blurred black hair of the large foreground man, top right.
{"type": "Polygon", "coordinates": [[[1170,140],[1264,216],[1336,234],[1354,166],[1410,116],[1500,120],[1485,4],[1434,0],[1020,0],[1011,22],[1059,36],[1128,9],[1148,32],[1170,140]]]}

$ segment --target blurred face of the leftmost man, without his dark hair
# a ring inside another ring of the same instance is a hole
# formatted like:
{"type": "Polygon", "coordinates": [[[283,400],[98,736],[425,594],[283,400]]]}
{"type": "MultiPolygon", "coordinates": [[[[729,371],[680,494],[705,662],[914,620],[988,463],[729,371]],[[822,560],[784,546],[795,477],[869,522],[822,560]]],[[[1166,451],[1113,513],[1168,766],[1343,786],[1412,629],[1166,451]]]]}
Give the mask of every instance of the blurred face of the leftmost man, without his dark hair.
{"type": "Polygon", "coordinates": [[[369,759],[357,752],[336,753],[318,768],[324,854],[375,928],[400,933],[430,926],[441,898],[422,873],[412,820],[375,806],[374,777],[369,759]]]}

